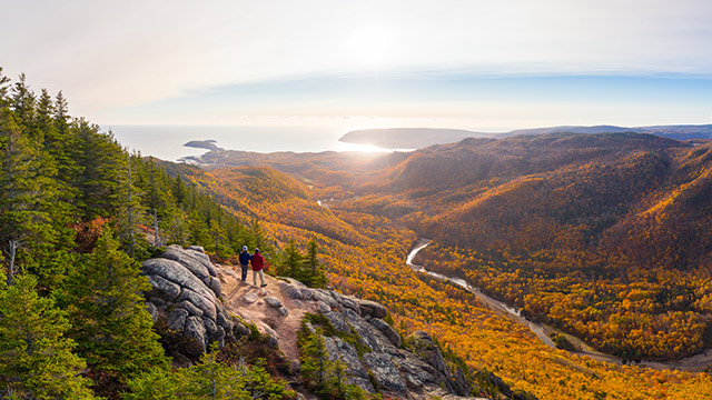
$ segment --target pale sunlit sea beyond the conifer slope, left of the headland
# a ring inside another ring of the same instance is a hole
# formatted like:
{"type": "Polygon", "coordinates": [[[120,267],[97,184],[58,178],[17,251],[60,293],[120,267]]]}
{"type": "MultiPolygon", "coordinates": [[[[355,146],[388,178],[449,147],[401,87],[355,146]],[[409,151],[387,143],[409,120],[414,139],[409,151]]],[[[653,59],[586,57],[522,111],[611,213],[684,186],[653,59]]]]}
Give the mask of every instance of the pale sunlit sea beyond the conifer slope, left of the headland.
{"type": "Polygon", "coordinates": [[[161,160],[176,161],[200,156],[207,150],[188,148],[190,140],[216,140],[228,150],[257,152],[294,151],[389,151],[370,146],[338,141],[345,131],[324,127],[188,127],[188,126],[103,126],[131,150],[161,160]]]}

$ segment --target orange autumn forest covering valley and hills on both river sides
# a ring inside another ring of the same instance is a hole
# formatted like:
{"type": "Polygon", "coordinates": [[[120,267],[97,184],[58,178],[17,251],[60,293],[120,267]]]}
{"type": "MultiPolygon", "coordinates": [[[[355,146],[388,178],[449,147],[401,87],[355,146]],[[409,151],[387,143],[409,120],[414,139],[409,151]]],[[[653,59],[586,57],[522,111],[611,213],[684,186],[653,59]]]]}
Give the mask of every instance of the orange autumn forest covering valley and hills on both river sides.
{"type": "Polygon", "coordinates": [[[632,360],[694,353],[709,346],[710,213],[701,200],[709,199],[709,143],[631,133],[467,139],[372,157],[367,170],[346,157],[335,168],[343,184],[324,179],[332,154],[208,159],[226,193],[251,172],[220,166],[291,171],[279,179],[301,188],[255,211],[265,229],[301,243],[318,233],[332,282],[386,303],[402,329],[426,329],[472,366],[542,398],[644,399],[705,398],[710,377],[552,351],[404,259],[417,236],[434,238],[419,263],[604,351],[632,360]]]}

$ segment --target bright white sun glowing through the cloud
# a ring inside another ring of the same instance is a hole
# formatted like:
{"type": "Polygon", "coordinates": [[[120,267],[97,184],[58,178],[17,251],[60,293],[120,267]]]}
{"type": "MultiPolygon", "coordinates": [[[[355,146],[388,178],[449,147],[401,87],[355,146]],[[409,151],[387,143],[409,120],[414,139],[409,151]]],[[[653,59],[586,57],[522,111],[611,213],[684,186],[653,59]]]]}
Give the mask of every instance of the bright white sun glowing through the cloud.
{"type": "Polygon", "coordinates": [[[346,53],[354,67],[377,69],[393,61],[393,31],[387,27],[364,27],[354,30],[346,42],[346,53]]]}

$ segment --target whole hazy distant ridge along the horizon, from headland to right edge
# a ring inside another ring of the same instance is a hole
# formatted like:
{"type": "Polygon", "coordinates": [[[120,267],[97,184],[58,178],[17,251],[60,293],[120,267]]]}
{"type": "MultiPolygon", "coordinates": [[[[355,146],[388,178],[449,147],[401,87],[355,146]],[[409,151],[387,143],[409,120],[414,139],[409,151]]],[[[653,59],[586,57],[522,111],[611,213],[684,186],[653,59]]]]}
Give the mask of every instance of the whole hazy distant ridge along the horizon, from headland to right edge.
{"type": "Polygon", "coordinates": [[[483,133],[461,129],[388,128],[355,130],[339,141],[378,146],[387,149],[423,149],[433,144],[455,143],[466,138],[508,138],[542,133],[649,133],[675,140],[712,139],[712,124],[681,124],[653,127],[561,126],[551,128],[515,129],[502,133],[483,133]]]}

